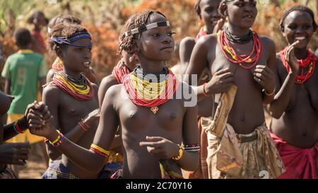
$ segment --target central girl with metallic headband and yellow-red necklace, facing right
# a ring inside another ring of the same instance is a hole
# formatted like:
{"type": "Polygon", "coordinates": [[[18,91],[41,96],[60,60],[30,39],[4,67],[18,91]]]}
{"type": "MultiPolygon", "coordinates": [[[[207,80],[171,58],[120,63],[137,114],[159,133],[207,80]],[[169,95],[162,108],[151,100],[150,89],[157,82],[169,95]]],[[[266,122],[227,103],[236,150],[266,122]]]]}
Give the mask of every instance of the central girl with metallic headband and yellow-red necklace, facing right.
{"type": "MultiPolygon", "coordinates": [[[[187,92],[191,88],[177,82],[165,67],[174,47],[170,24],[162,13],[148,10],[131,16],[125,25],[129,27],[122,39],[122,49],[136,53],[141,66],[123,84],[107,90],[90,150],[66,138],[58,149],[82,168],[98,172],[120,125],[123,177],[181,178],[180,168],[196,170],[199,165],[199,136],[196,106],[184,107],[183,96],[176,99],[181,89],[187,92]]],[[[54,141],[59,136],[55,128],[47,124],[35,134],[54,141]]]]}

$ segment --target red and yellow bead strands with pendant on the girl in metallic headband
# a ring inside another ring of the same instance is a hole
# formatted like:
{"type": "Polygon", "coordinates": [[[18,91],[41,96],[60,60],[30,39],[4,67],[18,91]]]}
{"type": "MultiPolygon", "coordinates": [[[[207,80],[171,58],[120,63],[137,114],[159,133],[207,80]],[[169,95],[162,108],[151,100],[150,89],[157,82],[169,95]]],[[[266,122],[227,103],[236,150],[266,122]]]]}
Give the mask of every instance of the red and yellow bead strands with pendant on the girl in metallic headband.
{"type": "Polygon", "coordinates": [[[153,114],[157,113],[159,110],[158,106],[163,105],[163,103],[166,103],[167,100],[172,98],[179,86],[179,81],[177,81],[175,74],[173,74],[170,69],[168,69],[168,71],[169,73],[167,74],[165,80],[160,82],[165,87],[163,92],[160,92],[160,95],[154,94],[152,99],[149,97],[143,97],[143,95],[140,95],[139,93],[148,93],[151,95],[152,91],[160,87],[160,83],[153,83],[157,85],[151,88],[153,90],[149,90],[149,82],[141,79],[139,76],[136,76],[134,72],[131,72],[129,76],[126,76],[123,85],[131,102],[138,106],[151,107],[153,114]],[[164,81],[165,83],[163,83],[164,81]]]}

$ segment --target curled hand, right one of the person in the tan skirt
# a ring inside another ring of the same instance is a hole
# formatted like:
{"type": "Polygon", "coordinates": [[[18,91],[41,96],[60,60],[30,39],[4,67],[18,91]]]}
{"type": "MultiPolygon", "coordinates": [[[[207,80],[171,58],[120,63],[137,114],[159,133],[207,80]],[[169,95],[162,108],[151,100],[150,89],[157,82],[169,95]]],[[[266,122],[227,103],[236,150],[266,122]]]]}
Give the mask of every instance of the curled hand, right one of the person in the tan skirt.
{"type": "Polygon", "coordinates": [[[273,93],[275,91],[273,71],[269,67],[257,65],[254,70],[254,80],[259,83],[261,88],[265,89],[266,93],[273,93]]]}

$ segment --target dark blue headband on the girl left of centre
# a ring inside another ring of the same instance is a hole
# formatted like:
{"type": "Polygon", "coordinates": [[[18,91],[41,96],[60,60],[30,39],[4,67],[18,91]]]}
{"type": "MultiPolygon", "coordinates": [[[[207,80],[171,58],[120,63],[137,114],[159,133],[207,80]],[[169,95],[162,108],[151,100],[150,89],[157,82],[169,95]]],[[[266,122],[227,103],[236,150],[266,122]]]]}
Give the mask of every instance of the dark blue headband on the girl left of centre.
{"type": "Polygon", "coordinates": [[[72,42],[80,39],[90,39],[90,34],[87,31],[78,32],[70,35],[69,37],[51,37],[52,42],[59,44],[59,45],[73,45],[76,47],[92,47],[92,42],[89,45],[75,45],[72,42]]]}

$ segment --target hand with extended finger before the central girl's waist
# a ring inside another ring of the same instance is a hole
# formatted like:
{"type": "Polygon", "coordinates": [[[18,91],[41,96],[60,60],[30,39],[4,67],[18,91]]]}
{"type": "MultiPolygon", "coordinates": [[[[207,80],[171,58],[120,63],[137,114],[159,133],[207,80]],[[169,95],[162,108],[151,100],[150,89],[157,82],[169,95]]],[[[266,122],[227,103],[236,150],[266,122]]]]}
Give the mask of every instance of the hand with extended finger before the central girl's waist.
{"type": "Polygon", "coordinates": [[[146,141],[139,142],[139,146],[145,146],[151,155],[160,159],[170,159],[179,154],[177,144],[160,136],[146,136],[146,141]]]}

